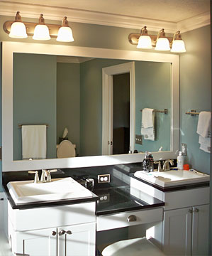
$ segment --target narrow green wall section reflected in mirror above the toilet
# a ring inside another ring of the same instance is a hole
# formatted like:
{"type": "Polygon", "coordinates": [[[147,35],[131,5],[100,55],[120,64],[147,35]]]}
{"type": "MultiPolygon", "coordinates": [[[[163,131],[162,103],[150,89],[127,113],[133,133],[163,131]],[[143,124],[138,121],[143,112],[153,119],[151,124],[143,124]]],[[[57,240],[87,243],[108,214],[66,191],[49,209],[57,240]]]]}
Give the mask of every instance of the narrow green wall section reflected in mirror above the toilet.
{"type": "Polygon", "coordinates": [[[79,63],[57,63],[57,143],[67,127],[68,139],[79,154],[80,131],[79,63]]]}

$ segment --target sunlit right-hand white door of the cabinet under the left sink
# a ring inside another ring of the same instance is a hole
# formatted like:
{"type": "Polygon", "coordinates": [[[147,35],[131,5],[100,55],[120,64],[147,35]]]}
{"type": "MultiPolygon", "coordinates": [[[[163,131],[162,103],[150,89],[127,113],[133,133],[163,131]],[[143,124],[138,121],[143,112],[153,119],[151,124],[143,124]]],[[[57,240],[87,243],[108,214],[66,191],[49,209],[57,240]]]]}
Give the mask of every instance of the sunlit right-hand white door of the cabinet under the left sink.
{"type": "Polygon", "coordinates": [[[65,226],[58,231],[59,256],[95,255],[96,223],[65,226]]]}

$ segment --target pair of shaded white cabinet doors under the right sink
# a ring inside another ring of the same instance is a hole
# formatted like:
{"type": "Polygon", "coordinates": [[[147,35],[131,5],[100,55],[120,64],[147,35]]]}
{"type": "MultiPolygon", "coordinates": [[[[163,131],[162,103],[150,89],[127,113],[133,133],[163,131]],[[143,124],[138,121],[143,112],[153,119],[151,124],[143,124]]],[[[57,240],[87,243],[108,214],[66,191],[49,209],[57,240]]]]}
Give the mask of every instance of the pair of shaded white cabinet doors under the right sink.
{"type": "Polygon", "coordinates": [[[208,225],[208,204],[164,211],[164,252],[167,255],[208,255],[208,225]]]}

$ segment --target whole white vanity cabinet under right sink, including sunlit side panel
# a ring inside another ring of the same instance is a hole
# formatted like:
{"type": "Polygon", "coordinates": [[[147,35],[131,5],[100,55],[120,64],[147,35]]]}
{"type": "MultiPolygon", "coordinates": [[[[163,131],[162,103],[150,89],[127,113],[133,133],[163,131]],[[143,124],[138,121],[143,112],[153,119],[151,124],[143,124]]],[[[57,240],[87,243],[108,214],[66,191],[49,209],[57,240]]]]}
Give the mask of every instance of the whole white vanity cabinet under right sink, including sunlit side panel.
{"type": "Polygon", "coordinates": [[[162,250],[167,255],[208,255],[209,186],[162,191],[130,179],[130,186],[164,201],[162,250]]]}

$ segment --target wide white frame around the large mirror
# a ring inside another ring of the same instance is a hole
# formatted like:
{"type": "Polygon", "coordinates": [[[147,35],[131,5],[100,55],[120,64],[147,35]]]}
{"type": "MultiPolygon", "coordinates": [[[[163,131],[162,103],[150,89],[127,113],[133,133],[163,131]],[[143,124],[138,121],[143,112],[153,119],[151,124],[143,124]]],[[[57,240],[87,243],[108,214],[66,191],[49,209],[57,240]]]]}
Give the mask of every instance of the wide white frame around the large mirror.
{"type": "Polygon", "coordinates": [[[143,60],[172,64],[172,113],[170,151],[153,152],[155,160],[174,159],[179,150],[179,55],[147,53],[131,50],[112,50],[41,43],[2,43],[2,171],[76,168],[129,164],[143,161],[144,154],[84,156],[67,159],[13,161],[13,53],[84,56],[120,60],[143,60]]]}

